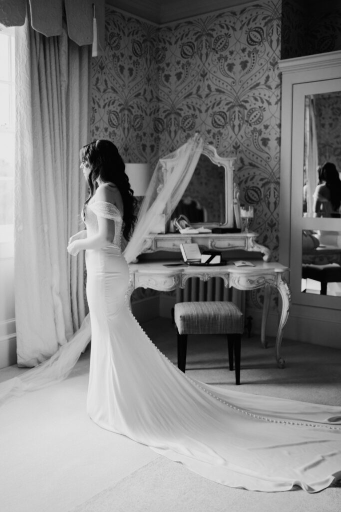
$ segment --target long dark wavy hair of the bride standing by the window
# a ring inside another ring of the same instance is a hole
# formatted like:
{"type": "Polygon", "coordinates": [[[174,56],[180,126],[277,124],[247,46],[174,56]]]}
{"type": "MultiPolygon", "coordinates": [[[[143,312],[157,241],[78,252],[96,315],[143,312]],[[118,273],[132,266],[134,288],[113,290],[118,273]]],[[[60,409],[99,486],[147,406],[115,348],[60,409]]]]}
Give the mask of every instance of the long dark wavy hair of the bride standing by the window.
{"type": "Polygon", "coordinates": [[[137,221],[137,216],[134,215],[137,200],[133,196],[129,178],[125,174],[125,164],[116,145],[110,140],[94,140],[81,148],[79,156],[81,162],[90,167],[90,173],[87,178],[89,196],[83,206],[83,220],[85,220],[85,206],[98,188],[97,180],[104,183],[113,183],[117,186],[122,196],[123,236],[126,240],[129,240],[137,221]]]}

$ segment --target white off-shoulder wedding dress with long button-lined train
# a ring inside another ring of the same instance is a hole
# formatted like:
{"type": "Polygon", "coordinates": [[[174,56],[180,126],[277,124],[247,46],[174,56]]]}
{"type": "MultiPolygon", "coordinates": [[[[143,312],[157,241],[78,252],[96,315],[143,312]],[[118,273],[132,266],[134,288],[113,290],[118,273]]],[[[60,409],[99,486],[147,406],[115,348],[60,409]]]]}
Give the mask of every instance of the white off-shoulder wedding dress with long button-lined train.
{"type": "Polygon", "coordinates": [[[151,342],[126,300],[122,218],[111,203],[86,208],[115,221],[115,239],[86,251],[92,346],[89,416],[231,487],[317,492],[341,476],[341,409],[208,386],[178,370],[151,342]]]}

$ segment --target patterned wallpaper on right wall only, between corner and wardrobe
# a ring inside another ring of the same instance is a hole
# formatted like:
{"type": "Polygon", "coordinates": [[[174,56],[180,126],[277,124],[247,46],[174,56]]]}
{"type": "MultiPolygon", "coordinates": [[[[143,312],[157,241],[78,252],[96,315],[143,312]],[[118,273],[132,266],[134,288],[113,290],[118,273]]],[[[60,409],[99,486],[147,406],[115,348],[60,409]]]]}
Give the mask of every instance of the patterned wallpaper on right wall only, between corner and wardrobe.
{"type": "Polygon", "coordinates": [[[200,16],[158,32],[164,154],[199,131],[221,156],[236,156],[241,200],[253,229],[278,247],[280,3],[200,16]]]}

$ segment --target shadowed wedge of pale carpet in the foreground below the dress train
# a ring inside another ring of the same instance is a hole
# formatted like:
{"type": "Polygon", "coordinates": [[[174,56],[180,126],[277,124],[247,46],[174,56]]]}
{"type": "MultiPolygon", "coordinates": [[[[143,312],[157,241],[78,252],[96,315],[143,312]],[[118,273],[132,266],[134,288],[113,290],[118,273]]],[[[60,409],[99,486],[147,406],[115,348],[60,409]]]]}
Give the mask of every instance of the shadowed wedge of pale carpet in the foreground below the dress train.
{"type": "Polygon", "coordinates": [[[181,464],[159,457],[70,512],[332,512],[341,488],[307,495],[256,493],[219,485],[181,464]]]}

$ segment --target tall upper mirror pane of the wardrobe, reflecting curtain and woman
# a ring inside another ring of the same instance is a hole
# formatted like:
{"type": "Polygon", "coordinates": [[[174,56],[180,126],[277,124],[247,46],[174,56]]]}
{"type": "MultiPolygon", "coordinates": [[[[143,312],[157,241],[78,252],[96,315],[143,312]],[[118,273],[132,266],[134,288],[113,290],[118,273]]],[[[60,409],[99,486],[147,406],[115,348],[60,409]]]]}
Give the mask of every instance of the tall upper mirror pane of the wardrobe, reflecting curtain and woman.
{"type": "Polygon", "coordinates": [[[341,91],[305,96],[304,131],[303,216],[338,217],[341,91]]]}

